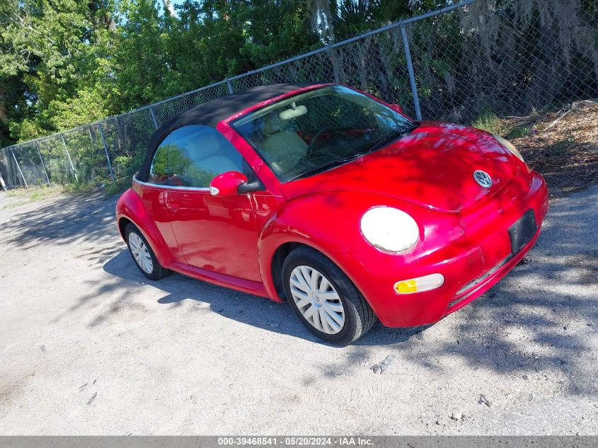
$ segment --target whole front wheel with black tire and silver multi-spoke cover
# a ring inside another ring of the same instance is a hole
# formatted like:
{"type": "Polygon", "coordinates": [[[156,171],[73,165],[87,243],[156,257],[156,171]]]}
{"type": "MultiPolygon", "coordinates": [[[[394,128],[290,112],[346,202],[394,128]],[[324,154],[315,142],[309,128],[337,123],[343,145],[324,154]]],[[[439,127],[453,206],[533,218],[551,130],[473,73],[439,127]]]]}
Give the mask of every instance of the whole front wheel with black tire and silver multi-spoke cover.
{"type": "Polygon", "coordinates": [[[301,323],[327,343],[350,344],[376,322],[374,310],[345,272],[313,248],[302,246],[289,253],[282,264],[282,281],[289,306],[301,323]]]}

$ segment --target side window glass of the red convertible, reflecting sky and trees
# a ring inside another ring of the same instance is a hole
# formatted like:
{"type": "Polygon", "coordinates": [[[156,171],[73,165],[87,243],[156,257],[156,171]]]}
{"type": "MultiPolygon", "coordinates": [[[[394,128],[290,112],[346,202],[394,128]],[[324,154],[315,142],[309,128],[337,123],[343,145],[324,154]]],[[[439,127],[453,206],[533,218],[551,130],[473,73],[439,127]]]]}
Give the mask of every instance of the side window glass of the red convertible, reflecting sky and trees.
{"type": "Polygon", "coordinates": [[[241,154],[213,127],[190,125],[171,132],[154,155],[150,183],[208,188],[226,171],[242,170],[241,154]]]}

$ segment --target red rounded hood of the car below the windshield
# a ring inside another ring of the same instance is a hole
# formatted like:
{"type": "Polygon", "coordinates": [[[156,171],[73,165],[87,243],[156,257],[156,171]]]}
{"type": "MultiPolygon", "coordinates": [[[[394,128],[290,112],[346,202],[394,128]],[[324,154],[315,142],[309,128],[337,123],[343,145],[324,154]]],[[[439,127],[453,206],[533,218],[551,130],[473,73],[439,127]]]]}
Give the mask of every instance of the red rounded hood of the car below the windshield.
{"type": "Polygon", "coordinates": [[[422,122],[388,146],[314,176],[284,183],[287,199],[318,192],[358,191],[393,197],[439,212],[458,213],[498,195],[522,163],[487,132],[422,122]],[[493,180],[483,188],[482,170],[493,180]]]}

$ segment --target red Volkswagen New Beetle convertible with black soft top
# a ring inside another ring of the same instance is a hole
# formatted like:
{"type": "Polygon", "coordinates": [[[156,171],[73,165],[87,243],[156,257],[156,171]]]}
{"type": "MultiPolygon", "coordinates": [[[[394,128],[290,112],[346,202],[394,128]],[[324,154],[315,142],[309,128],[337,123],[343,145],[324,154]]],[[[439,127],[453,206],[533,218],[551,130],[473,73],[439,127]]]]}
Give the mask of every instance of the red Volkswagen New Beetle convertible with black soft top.
{"type": "Polygon", "coordinates": [[[544,179],[481,130],[337,84],[212,100],[152,135],[117,224],[141,272],[288,301],[321,340],[438,321],[534,245],[544,179]]]}

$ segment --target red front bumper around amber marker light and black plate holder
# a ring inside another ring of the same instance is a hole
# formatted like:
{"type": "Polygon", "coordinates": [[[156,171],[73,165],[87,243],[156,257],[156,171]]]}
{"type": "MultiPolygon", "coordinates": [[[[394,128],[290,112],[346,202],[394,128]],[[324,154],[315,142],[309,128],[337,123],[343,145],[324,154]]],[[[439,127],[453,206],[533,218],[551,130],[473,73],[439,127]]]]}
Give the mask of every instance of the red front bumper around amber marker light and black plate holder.
{"type": "Polygon", "coordinates": [[[538,173],[530,176],[527,191],[521,191],[521,183],[513,183],[473,211],[434,213],[434,225],[426,227],[424,241],[415,253],[398,256],[367,248],[328,255],[343,266],[384,326],[434,323],[493,287],[536,243],[548,212],[548,190],[538,173]],[[529,209],[534,210],[536,233],[512,254],[508,229],[529,209]],[[444,276],[437,289],[394,292],[393,285],[399,280],[433,273],[444,276]]]}

